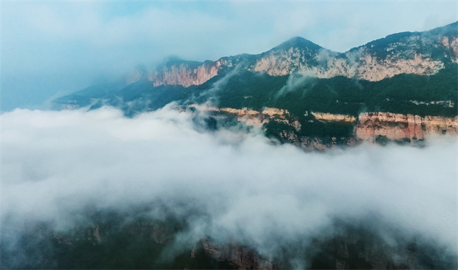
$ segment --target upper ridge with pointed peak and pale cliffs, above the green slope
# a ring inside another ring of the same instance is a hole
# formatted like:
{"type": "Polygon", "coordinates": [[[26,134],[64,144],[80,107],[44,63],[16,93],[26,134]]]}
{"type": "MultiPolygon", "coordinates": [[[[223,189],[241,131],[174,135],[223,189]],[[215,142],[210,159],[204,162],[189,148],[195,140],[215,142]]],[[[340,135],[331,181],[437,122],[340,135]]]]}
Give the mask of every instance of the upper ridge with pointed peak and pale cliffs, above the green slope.
{"type": "Polygon", "coordinates": [[[403,32],[337,53],[295,37],[258,55],[240,55],[204,63],[171,60],[149,76],[155,86],[199,85],[240,65],[242,70],[271,76],[299,73],[310,77],[345,76],[379,81],[401,73],[433,75],[458,59],[458,23],[427,32],[403,32]]]}

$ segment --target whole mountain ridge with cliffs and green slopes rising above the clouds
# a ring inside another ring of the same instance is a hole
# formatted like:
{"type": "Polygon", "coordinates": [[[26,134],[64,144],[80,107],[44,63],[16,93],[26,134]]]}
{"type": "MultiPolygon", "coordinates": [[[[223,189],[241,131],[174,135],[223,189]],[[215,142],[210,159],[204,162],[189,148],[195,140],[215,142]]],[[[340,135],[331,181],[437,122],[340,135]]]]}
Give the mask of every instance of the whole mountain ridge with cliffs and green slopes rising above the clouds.
{"type": "Polygon", "coordinates": [[[171,57],[140,73],[130,84],[58,98],[55,108],[113,105],[132,116],[171,101],[182,110],[211,100],[209,122],[232,117],[310,150],[421,143],[458,130],[458,22],[390,34],[345,53],[294,37],[256,55],[202,63],[171,57]]]}

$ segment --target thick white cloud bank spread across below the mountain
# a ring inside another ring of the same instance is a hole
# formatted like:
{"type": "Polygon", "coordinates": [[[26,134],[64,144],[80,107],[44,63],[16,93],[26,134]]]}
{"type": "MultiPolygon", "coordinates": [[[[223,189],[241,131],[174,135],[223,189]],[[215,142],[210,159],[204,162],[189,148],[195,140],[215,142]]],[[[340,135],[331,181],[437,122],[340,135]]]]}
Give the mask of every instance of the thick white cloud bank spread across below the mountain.
{"type": "Polygon", "coordinates": [[[14,110],[1,121],[4,224],[65,228],[87,206],[128,211],[159,201],[177,217],[200,213],[190,241],[209,236],[268,253],[272,239],[377,217],[457,254],[456,137],[304,153],[256,130],[203,132],[169,106],[132,119],[106,107],[14,110]]]}

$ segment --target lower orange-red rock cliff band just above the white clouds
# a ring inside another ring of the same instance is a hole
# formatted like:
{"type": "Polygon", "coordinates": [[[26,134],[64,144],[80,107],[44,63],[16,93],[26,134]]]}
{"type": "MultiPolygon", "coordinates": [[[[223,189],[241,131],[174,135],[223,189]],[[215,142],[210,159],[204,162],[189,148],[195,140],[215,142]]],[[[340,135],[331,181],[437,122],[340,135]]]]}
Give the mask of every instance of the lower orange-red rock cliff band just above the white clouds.
{"type": "MultiPolygon", "coordinates": [[[[218,111],[217,108],[212,108],[218,111]]],[[[247,108],[221,108],[220,112],[236,115],[237,120],[254,127],[261,127],[270,121],[281,122],[300,131],[300,122],[287,110],[264,108],[262,112],[247,108]]],[[[306,112],[307,115],[309,114],[306,112]]],[[[323,139],[313,136],[298,136],[294,131],[281,131],[280,138],[305,150],[326,150],[337,145],[354,146],[361,141],[378,140],[410,141],[423,140],[428,134],[458,134],[458,117],[402,115],[396,113],[360,113],[336,115],[310,112],[320,122],[345,122],[354,125],[354,134],[345,138],[323,139]]]]}

